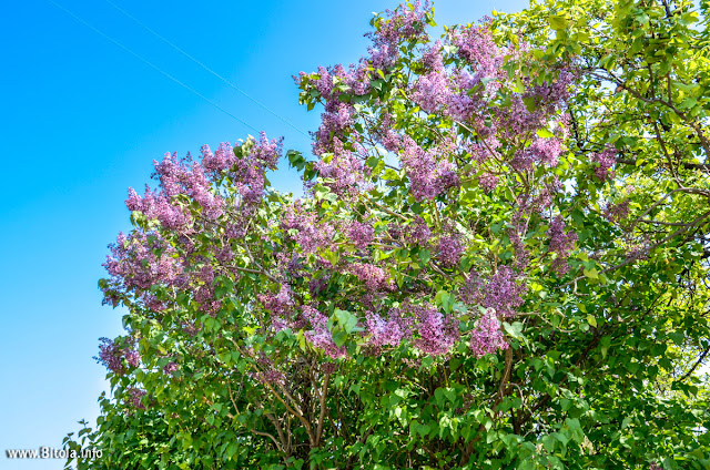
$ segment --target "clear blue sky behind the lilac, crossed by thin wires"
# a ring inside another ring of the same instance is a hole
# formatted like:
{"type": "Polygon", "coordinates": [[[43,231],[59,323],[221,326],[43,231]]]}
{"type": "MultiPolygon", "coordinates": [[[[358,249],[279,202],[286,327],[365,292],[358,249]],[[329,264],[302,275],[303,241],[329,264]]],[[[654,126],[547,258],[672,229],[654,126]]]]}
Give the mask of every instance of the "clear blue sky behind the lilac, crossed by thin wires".
{"type": "MultiPolygon", "coordinates": [[[[272,136],[310,141],[125,18],[103,0],[57,0],[159,68],[272,136]]],[[[373,11],[396,2],[112,0],[252,96],[313,131],[291,78],[365,52],[373,11]]],[[[439,24],[517,11],[524,0],[435,2],[439,24]]],[[[149,182],[164,152],[199,153],[253,131],[171,82],[47,0],[7,2],[0,20],[0,469],[61,469],[11,461],[6,449],[60,448],[77,421],[94,421],[105,369],[98,338],[122,333],[101,307],[106,244],[128,231],[126,187],[149,182]]],[[[285,166],[285,165],[284,165],[285,166]]],[[[300,191],[292,172],[272,178],[300,191]]]]}

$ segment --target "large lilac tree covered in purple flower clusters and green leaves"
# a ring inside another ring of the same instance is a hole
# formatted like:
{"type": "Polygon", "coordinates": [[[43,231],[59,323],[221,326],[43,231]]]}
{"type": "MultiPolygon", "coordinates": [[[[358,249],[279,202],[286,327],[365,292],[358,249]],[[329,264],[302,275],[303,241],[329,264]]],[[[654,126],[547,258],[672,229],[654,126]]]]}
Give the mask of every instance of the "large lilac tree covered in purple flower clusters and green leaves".
{"type": "Polygon", "coordinates": [[[594,131],[548,13],[433,40],[400,6],[359,63],[296,76],[323,108],[315,160],[286,152],[303,198],[270,187],[264,134],[155,162],[100,283],[128,333],[79,467],[707,468],[682,368],[709,344],[708,214],[643,204],[652,165],[594,131]]]}

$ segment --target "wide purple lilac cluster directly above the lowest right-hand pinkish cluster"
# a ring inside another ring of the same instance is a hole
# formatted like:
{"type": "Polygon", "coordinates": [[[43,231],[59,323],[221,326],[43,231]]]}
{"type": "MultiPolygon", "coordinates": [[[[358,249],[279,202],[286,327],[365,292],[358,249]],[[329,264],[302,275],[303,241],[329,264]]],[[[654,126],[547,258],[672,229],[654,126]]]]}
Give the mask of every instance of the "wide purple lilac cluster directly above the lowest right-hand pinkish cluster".
{"type": "Polygon", "coordinates": [[[487,278],[471,273],[460,294],[466,304],[493,308],[504,318],[510,318],[516,315],[516,308],[523,305],[525,292],[518,274],[508,266],[498,266],[487,278]]]}

